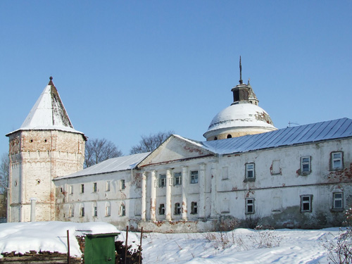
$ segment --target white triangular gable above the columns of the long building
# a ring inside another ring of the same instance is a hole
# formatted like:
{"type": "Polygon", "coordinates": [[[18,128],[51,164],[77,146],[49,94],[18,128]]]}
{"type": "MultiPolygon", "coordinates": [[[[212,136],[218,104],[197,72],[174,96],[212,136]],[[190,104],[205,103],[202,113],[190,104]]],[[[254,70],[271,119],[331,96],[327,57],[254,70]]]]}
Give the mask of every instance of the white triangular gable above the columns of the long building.
{"type": "Polygon", "coordinates": [[[151,152],[138,167],[146,165],[168,163],[172,161],[182,161],[190,158],[201,158],[213,156],[215,153],[184,137],[172,134],[156,150],[151,152]]]}

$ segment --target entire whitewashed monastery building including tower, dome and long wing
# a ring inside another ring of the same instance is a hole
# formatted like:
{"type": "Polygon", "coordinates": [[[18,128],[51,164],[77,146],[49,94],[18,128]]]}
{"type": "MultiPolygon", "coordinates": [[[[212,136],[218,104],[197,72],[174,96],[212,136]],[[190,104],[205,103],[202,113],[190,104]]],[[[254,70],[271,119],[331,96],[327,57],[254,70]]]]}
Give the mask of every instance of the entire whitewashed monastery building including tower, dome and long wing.
{"type": "Polygon", "coordinates": [[[87,137],[73,128],[51,78],[23,125],[6,135],[8,221],[35,213],[39,221],[156,232],[341,225],[352,203],[352,120],[277,130],[249,82],[240,76],[232,93],[206,141],[173,134],[151,153],[83,170],[87,137]]]}

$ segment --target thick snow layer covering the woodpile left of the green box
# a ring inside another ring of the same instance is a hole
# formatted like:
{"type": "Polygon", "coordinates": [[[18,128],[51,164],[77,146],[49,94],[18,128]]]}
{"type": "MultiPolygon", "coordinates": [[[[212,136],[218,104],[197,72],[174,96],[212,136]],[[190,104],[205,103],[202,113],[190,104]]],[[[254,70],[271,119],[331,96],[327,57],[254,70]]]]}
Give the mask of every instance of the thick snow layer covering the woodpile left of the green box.
{"type": "Polygon", "coordinates": [[[106,222],[4,223],[0,224],[0,252],[57,251],[67,253],[67,230],[70,234],[70,256],[82,255],[76,236],[120,232],[106,222]]]}

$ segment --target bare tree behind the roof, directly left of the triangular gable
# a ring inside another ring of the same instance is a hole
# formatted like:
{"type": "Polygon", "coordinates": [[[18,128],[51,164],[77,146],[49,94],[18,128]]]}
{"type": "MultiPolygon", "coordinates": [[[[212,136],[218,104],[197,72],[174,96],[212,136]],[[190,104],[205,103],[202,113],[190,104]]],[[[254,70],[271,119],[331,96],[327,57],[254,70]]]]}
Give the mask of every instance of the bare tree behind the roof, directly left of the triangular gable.
{"type": "Polygon", "coordinates": [[[160,146],[163,142],[165,142],[173,131],[168,132],[158,132],[156,134],[150,134],[149,136],[142,135],[142,139],[136,146],[132,146],[130,150],[130,154],[144,153],[153,151],[158,146],[160,146]]]}

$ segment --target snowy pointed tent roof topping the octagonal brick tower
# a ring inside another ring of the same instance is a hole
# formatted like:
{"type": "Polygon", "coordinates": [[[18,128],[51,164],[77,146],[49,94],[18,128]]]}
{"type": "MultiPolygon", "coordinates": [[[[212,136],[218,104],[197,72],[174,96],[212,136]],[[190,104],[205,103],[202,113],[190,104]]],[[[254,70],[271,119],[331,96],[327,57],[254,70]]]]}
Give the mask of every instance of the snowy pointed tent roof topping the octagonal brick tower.
{"type": "Polygon", "coordinates": [[[63,130],[83,134],[73,128],[54,85],[53,77],[50,77],[49,84],[44,88],[19,130],[63,130]]]}

